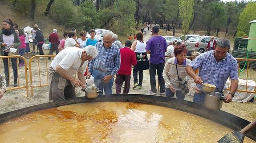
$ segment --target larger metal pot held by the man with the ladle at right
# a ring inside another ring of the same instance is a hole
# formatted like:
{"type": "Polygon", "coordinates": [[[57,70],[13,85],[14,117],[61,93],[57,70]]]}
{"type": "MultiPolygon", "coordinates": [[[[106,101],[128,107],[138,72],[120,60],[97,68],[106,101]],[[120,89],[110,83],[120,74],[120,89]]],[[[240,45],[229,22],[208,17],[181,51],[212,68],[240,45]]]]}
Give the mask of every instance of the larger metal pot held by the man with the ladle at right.
{"type": "Polygon", "coordinates": [[[213,109],[213,110],[218,110],[222,107],[222,103],[224,99],[224,95],[222,93],[217,93],[217,92],[205,92],[204,96],[204,105],[207,108],[213,109]]]}

